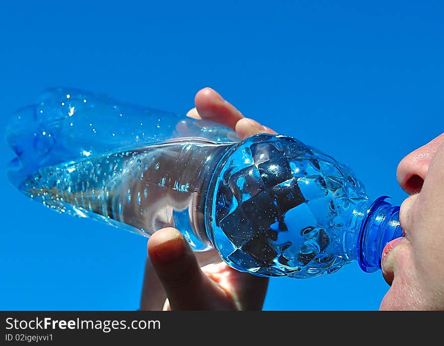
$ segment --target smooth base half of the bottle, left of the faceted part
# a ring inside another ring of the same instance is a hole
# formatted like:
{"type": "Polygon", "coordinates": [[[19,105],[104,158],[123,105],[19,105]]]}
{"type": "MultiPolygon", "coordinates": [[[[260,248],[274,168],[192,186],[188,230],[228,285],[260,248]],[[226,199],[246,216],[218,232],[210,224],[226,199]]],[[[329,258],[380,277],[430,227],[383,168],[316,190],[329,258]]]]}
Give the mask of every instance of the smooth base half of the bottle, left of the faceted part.
{"type": "Polygon", "coordinates": [[[194,235],[203,176],[213,154],[240,140],[211,121],[73,88],[18,109],[6,139],[10,181],[48,208],[142,235],[174,226],[195,250],[208,247],[194,235]]]}

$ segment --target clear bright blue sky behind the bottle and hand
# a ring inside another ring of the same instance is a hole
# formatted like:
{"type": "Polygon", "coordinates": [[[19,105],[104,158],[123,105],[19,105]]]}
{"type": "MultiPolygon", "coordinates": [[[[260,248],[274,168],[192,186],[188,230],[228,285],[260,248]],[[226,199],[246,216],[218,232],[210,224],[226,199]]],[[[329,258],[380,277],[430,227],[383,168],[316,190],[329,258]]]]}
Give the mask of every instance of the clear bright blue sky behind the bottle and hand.
{"type": "MultiPolygon", "coordinates": [[[[211,86],[348,164],[371,198],[401,203],[398,162],[443,131],[443,12],[438,1],[5,2],[0,129],[47,87],[185,113],[211,86]]],[[[137,309],[146,239],[28,200],[0,145],[0,309],[137,309]]],[[[387,289],[353,263],[272,279],[264,309],[375,310],[387,289]]]]}

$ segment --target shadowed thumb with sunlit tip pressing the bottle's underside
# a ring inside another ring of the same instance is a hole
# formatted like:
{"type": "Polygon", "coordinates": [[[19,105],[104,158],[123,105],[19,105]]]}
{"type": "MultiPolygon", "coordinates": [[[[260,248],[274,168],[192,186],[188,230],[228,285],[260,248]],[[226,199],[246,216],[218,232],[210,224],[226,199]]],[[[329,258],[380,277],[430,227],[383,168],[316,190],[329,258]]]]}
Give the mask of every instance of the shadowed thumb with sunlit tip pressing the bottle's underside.
{"type": "Polygon", "coordinates": [[[200,269],[193,250],[174,228],[155,232],[148,253],[172,310],[227,309],[227,294],[200,269]]]}

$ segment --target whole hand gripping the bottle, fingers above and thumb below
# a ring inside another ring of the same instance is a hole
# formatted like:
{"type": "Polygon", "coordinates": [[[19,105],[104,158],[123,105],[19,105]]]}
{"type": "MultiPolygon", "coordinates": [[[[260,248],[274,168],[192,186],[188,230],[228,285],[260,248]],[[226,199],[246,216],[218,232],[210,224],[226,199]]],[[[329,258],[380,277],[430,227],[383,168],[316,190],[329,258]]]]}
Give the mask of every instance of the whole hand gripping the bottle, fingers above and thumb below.
{"type": "MultiPolygon", "coordinates": [[[[276,133],[244,117],[210,88],[200,90],[194,101],[196,107],[187,116],[228,126],[235,129],[241,139],[257,133],[276,133]]],[[[194,253],[182,234],[174,228],[155,232],[148,241],[148,254],[141,310],[262,308],[268,286],[267,278],[229,267],[225,262],[220,262],[215,250],[194,253]],[[212,263],[215,261],[219,263],[212,263]]]]}

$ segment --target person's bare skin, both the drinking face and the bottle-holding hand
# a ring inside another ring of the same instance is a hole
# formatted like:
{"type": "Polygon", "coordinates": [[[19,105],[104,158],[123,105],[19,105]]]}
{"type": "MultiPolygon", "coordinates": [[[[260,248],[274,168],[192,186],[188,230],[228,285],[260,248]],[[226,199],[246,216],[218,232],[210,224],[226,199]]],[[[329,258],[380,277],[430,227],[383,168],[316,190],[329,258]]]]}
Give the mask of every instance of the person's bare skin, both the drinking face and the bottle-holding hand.
{"type": "MultiPolygon", "coordinates": [[[[275,133],[245,118],[210,88],[200,90],[188,116],[210,119],[245,139],[275,133]]],[[[390,285],[380,310],[444,310],[444,133],[407,155],[397,178],[409,194],[401,205],[405,237],[384,249],[382,275],[390,285]]],[[[192,251],[174,228],[155,232],[148,256],[142,310],[260,310],[268,279],[230,268],[214,251],[192,251]]]]}

